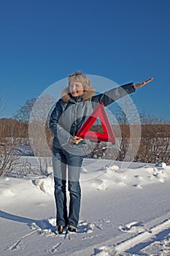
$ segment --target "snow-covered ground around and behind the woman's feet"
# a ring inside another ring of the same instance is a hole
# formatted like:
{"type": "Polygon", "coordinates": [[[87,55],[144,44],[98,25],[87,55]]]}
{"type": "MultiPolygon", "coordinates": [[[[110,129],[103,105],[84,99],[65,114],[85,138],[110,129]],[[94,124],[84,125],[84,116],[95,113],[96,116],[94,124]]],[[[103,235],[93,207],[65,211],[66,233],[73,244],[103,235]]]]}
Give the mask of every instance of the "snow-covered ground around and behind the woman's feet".
{"type": "Polygon", "coordinates": [[[1,177],[0,255],[170,255],[170,165],[125,165],[84,159],[77,233],[57,236],[51,167],[1,177]]]}

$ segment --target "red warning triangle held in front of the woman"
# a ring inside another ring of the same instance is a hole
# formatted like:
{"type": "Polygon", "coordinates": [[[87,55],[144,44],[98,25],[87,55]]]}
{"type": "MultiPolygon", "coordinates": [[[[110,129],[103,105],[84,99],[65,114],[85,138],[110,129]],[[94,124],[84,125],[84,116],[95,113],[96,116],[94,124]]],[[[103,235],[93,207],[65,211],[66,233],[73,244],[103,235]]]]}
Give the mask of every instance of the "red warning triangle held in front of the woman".
{"type": "Polygon", "coordinates": [[[85,124],[82,125],[76,136],[88,140],[109,141],[115,143],[115,134],[112,130],[112,126],[109,122],[104,104],[102,102],[99,102],[98,105],[96,105],[93,113],[91,113],[89,118],[85,121],[85,124]],[[97,118],[100,119],[104,132],[89,131],[97,118]]]}

